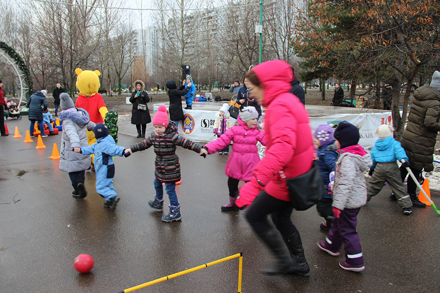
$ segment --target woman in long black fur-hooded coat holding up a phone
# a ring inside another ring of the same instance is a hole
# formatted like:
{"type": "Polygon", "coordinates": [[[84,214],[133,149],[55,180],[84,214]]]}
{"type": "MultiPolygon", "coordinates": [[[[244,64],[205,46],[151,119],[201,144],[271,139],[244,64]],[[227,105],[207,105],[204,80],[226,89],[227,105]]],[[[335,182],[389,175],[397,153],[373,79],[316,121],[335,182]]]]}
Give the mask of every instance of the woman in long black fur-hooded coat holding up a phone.
{"type": "Polygon", "coordinates": [[[133,104],[132,109],[132,124],[136,125],[138,135],[136,137],[145,137],[145,130],[147,129],[147,123],[151,122],[149,116],[149,110],[147,103],[149,97],[145,89],[145,84],[141,80],[136,80],[133,84],[134,91],[130,97],[130,103],[133,104]],[[141,106],[139,106],[141,105],[141,106]],[[145,106],[145,110],[140,110],[140,107],[145,106]]]}

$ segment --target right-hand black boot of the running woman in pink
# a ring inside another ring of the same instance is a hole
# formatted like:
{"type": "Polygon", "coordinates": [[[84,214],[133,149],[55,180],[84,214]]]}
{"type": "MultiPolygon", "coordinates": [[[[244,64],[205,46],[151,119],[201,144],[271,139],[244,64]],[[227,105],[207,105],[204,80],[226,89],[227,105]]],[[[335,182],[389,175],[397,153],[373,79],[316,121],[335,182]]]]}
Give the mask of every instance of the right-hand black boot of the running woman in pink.
{"type": "Polygon", "coordinates": [[[300,276],[308,276],[310,268],[308,267],[307,261],[305,260],[304,249],[302,248],[301,237],[299,236],[299,233],[295,232],[290,236],[284,236],[283,240],[289,248],[289,252],[292,258],[293,269],[291,273],[298,274],[300,276]]]}

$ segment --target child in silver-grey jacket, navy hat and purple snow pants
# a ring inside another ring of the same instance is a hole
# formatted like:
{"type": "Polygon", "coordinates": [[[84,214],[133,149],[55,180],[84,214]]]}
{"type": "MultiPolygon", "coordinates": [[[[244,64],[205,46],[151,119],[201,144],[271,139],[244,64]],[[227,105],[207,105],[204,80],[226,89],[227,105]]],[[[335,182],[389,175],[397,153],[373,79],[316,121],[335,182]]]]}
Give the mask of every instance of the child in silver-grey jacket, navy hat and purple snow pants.
{"type": "Polygon", "coordinates": [[[318,247],[337,256],[344,243],[345,260],[339,266],[347,271],[360,272],[365,269],[361,241],[356,231],[358,213],[367,203],[365,171],[371,166],[371,158],[358,142],[358,127],[343,121],[335,130],[334,138],[338,146],[339,158],[335,166],[333,187],[332,226],[325,240],[318,247]]]}

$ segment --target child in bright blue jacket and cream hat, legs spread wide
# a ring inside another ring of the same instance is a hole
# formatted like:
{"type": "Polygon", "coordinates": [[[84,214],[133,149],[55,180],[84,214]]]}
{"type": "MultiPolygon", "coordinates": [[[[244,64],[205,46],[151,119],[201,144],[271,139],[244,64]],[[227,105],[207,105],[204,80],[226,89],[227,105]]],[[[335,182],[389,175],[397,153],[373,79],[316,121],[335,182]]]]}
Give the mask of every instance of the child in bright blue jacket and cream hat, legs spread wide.
{"type": "Polygon", "coordinates": [[[367,185],[367,200],[371,199],[371,196],[376,195],[382,190],[383,184],[388,182],[388,185],[393,190],[399,206],[405,215],[412,213],[411,199],[408,193],[405,191],[405,187],[400,177],[399,167],[396,160],[403,161],[403,166],[409,167],[408,157],[405,150],[400,145],[400,142],[396,141],[393,135],[394,128],[388,125],[380,125],[376,129],[377,137],[373,148],[371,149],[371,160],[373,165],[371,166],[368,175],[371,179],[367,185]]]}

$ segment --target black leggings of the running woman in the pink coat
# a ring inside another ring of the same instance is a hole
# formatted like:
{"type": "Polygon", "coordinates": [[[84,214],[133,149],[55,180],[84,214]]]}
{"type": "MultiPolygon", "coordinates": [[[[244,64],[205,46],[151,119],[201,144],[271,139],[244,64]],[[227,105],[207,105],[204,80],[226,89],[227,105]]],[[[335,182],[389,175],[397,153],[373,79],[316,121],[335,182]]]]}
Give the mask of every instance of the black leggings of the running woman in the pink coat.
{"type": "Polygon", "coordinates": [[[262,191],[247,209],[246,220],[255,233],[267,234],[272,230],[267,220],[267,215],[270,214],[277,230],[283,236],[290,236],[297,232],[291,220],[292,212],[293,206],[290,202],[276,199],[262,191]]]}

